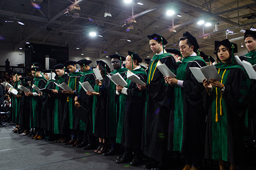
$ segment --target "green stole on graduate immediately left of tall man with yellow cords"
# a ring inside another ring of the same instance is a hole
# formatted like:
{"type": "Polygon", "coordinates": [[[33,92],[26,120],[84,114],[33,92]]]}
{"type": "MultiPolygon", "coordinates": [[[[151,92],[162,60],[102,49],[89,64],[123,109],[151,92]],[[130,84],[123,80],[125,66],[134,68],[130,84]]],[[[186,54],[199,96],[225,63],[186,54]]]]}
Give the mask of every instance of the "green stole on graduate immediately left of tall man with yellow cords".
{"type": "MultiPolygon", "coordinates": [[[[145,74],[147,75],[146,71],[143,69],[135,69],[132,70],[134,74],[145,74]]],[[[127,79],[127,72],[125,73],[126,77],[124,80],[127,82],[127,86],[125,88],[129,89],[131,80],[127,79]]],[[[141,97],[141,92],[136,94],[141,97]]],[[[117,124],[117,132],[116,132],[116,142],[121,143],[122,141],[122,135],[123,135],[123,128],[124,128],[124,114],[125,114],[125,101],[126,101],[127,95],[121,94],[119,95],[119,120],[117,124]]]]}

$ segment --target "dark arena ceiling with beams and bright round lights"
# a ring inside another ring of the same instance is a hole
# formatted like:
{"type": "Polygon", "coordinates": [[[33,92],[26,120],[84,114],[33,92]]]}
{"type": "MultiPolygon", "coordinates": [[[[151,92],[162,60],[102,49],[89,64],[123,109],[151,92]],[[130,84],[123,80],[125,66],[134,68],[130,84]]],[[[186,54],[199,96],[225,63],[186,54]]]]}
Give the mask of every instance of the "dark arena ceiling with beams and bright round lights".
{"type": "Polygon", "coordinates": [[[179,37],[189,31],[201,49],[213,49],[215,40],[241,39],[242,29],[256,27],[255,16],[256,0],[0,0],[0,49],[17,50],[29,42],[67,46],[73,56],[102,58],[131,50],[145,58],[153,56],[149,34],[164,36],[165,48],[178,48],[179,37]],[[168,10],[175,14],[166,15],[168,10]],[[91,31],[97,35],[91,37],[91,31]]]}

